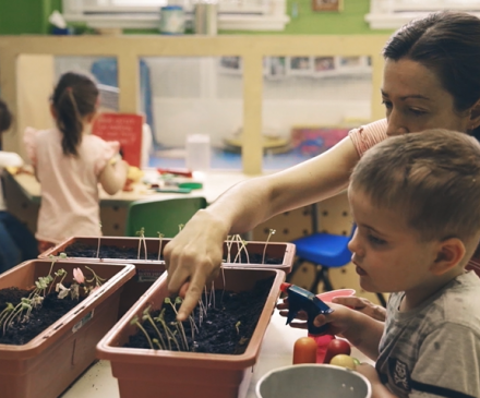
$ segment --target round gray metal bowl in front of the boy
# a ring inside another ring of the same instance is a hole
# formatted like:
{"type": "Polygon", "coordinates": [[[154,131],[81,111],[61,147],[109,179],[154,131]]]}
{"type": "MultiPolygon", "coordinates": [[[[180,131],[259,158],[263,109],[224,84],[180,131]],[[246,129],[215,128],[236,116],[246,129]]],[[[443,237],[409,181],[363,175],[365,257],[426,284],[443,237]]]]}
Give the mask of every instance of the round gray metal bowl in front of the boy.
{"type": "Polygon", "coordinates": [[[326,364],[275,369],[256,384],[257,398],[370,398],[372,387],[360,373],[326,364]]]}

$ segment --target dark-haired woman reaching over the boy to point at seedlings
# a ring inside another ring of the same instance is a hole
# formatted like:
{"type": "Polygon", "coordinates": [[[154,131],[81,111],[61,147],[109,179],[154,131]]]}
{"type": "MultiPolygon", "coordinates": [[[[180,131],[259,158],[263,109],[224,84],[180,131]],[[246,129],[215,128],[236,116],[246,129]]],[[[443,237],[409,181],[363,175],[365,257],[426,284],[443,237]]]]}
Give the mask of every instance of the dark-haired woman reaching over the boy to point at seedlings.
{"type": "Polygon", "coordinates": [[[227,234],[250,231],[277,214],[340,192],[363,153],[388,135],[442,128],[480,136],[478,17],[432,13],[397,31],[383,55],[386,119],[352,130],[313,159],[237,184],[166,245],[168,289],[185,293],[179,319],[188,317],[218,272],[227,234]]]}

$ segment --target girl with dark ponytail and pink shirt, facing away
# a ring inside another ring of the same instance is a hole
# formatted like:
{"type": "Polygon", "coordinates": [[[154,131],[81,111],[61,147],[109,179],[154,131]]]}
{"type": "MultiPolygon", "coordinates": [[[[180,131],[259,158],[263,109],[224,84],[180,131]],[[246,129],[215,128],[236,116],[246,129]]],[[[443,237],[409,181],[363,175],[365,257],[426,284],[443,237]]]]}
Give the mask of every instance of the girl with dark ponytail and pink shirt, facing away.
{"type": "Polygon", "coordinates": [[[41,252],[72,236],[101,234],[98,183],[112,195],[127,180],[128,164],[113,162],[118,142],[89,134],[98,88],[86,75],[68,72],[51,97],[57,128],[27,128],[24,143],[41,184],[36,238],[41,252]]]}

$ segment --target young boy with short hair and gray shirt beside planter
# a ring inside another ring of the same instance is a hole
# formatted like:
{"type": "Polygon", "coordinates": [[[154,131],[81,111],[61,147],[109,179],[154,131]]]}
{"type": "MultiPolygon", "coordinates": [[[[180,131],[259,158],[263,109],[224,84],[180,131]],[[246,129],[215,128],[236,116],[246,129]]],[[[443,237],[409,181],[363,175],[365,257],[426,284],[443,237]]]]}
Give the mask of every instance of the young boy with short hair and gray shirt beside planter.
{"type": "Polygon", "coordinates": [[[377,397],[480,397],[480,144],[444,130],[369,149],[348,197],[362,289],[392,292],[386,322],[332,304],[328,323],[376,361],[358,366],[377,397]]]}

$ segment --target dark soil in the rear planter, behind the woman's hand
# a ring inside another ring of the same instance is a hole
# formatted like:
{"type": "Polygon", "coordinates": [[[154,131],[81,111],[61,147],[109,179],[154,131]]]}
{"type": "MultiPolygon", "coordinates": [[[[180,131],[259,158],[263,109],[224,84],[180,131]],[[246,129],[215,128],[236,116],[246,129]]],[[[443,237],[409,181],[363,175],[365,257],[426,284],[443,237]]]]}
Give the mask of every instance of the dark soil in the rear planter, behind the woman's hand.
{"type": "MultiPolygon", "coordinates": [[[[248,248],[248,245],[247,245],[248,248]]],[[[97,256],[97,245],[92,244],[85,244],[82,242],[73,242],[72,244],[68,245],[64,250],[64,253],[69,257],[92,257],[92,258],[122,258],[122,260],[145,260],[145,252],[142,250],[140,252],[139,257],[139,249],[137,248],[127,248],[127,246],[113,246],[113,245],[106,245],[101,244],[99,250],[99,255],[97,256]]],[[[236,255],[232,255],[232,261],[235,260],[236,255]]],[[[244,252],[241,253],[241,261],[237,260],[236,263],[242,263],[242,264],[262,264],[262,254],[255,254],[249,253],[249,258],[247,258],[247,255],[244,252]],[[249,261],[248,261],[249,260],[249,261]]],[[[158,261],[158,252],[155,253],[147,253],[147,260],[151,261],[158,261]]],[[[160,261],[163,261],[163,256],[160,256],[160,261]]],[[[264,264],[281,264],[284,258],[275,258],[269,257],[268,255],[265,255],[265,262],[264,264]]]]}

